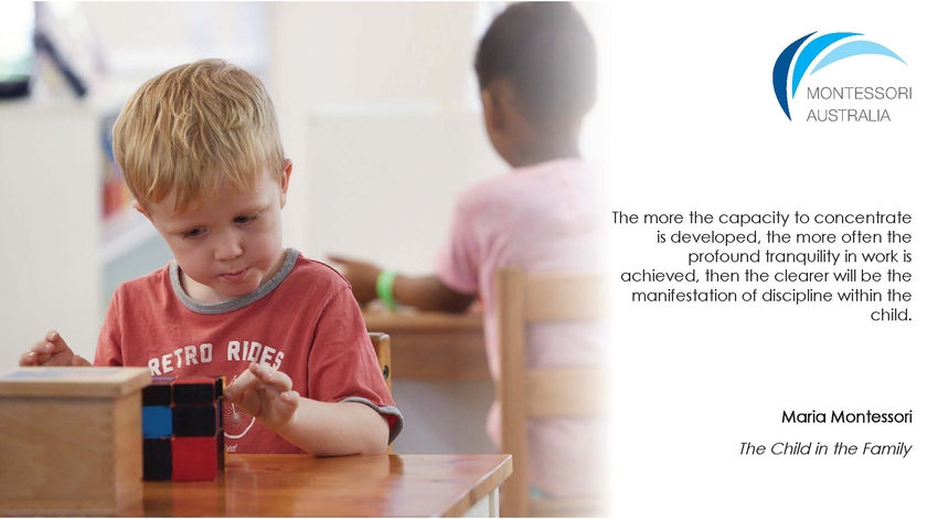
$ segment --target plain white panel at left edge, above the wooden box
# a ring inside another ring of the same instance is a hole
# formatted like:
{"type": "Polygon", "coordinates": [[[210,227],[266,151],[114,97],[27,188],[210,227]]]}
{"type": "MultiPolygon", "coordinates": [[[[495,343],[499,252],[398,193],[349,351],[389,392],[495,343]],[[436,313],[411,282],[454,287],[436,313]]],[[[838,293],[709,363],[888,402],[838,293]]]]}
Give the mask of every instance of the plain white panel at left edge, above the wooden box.
{"type": "Polygon", "coordinates": [[[0,106],[0,369],[51,328],[94,356],[103,315],[98,131],[86,105],[0,106]]]}

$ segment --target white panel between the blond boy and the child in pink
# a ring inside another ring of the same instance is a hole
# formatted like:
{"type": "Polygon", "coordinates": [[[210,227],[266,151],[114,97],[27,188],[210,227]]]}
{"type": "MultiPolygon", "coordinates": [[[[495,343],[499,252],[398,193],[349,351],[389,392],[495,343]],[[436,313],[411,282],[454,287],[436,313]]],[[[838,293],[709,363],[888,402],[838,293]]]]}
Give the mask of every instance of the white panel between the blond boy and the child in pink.
{"type": "Polygon", "coordinates": [[[433,268],[458,192],[509,169],[481,115],[419,109],[313,114],[307,160],[294,173],[308,176],[303,252],[413,274],[433,268]]]}

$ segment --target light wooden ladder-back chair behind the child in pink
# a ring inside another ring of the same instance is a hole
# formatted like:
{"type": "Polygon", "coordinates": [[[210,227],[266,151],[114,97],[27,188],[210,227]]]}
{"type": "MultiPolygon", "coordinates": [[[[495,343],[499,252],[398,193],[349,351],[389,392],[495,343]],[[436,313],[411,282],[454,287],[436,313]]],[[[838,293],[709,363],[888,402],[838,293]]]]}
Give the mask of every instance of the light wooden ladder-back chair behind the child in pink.
{"type": "Polygon", "coordinates": [[[600,416],[607,394],[603,369],[529,369],[524,353],[530,322],[603,318],[608,308],[603,283],[598,275],[534,274],[514,266],[497,274],[502,452],[511,454],[513,470],[501,488],[500,513],[504,517],[605,515],[605,500],[600,498],[530,498],[526,431],[529,417],[600,416]]]}

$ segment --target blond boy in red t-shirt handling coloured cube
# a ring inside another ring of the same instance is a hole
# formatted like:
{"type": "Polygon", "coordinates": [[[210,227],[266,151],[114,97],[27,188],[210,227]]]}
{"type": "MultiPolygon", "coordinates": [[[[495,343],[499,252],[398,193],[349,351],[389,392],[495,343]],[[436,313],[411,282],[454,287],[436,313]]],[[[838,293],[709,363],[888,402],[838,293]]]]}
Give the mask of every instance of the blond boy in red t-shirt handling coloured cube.
{"type": "MultiPolygon", "coordinates": [[[[281,245],[292,162],[260,81],[221,60],[153,77],[114,155],[174,261],[115,292],[94,364],[225,375],[230,453],[384,453],[403,419],[349,284],[281,245]]],[[[50,331],[20,366],[89,363],[50,331]]]]}

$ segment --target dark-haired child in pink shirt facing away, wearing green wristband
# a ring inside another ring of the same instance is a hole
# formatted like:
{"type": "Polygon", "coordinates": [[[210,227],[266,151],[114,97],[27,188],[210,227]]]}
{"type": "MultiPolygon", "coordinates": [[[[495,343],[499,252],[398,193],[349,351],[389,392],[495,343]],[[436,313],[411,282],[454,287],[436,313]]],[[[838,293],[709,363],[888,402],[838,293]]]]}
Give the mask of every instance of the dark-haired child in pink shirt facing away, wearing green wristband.
{"type": "MultiPolygon", "coordinates": [[[[462,192],[436,274],[397,275],[375,265],[330,260],[362,304],[375,298],[423,310],[465,311],[477,297],[484,311],[489,367],[499,380],[492,301],[499,267],[529,272],[600,272],[604,203],[599,171],[579,155],[584,116],[596,98],[596,50],[584,20],[568,3],[510,6],[486,32],[476,54],[486,130],[513,169],[462,192]]],[[[531,367],[604,362],[595,326],[529,327],[531,367]]],[[[487,431],[500,442],[500,406],[487,431]]],[[[529,421],[531,483],[555,497],[601,491],[605,436],[599,421],[529,421]]]]}

